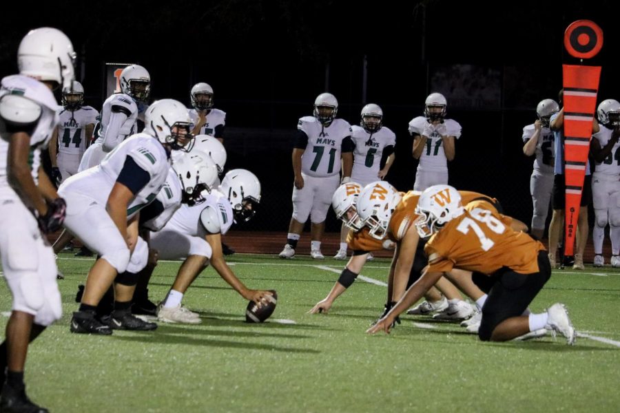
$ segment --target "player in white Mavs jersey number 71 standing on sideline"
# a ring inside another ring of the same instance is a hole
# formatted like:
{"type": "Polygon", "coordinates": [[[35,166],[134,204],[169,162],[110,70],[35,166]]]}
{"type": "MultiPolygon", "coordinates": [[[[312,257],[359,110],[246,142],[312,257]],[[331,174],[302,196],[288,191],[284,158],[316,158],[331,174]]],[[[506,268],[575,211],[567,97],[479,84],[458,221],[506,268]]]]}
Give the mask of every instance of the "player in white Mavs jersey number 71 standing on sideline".
{"type": "Polygon", "coordinates": [[[321,240],[331,197],[340,184],[351,180],[353,140],[351,125],[336,118],[338,100],[322,93],[314,101],[313,116],[300,118],[293,142],[293,216],[289,224],[287,244],[280,258],[295,257],[295,248],[304,224],[310,217],[311,251],[315,260],[324,260],[321,240]]]}

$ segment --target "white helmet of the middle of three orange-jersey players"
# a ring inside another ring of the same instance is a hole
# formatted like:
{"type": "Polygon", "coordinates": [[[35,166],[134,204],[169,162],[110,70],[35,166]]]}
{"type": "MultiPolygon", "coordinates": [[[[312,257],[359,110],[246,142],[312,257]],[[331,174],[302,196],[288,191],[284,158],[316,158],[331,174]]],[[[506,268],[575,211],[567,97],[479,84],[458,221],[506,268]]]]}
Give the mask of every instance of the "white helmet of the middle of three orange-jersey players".
{"type": "Polygon", "coordinates": [[[400,192],[387,181],[367,184],[355,204],[358,215],[368,226],[370,235],[378,240],[384,239],[392,214],[402,199],[400,192]]]}

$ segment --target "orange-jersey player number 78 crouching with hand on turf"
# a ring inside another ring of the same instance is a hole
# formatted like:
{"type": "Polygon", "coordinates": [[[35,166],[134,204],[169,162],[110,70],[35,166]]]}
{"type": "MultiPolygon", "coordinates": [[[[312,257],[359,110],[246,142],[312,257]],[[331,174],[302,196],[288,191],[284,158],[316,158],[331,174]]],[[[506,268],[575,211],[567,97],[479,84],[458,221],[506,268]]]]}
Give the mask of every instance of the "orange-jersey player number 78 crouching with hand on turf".
{"type": "Polygon", "coordinates": [[[462,206],[461,195],[448,185],[435,185],[420,195],[415,226],[430,237],[424,251],[428,267],[392,310],[367,332],[389,332],[395,317],[420,299],[446,271],[474,271],[474,281],[488,297],[482,307],[478,336],[483,341],[506,341],[545,328],[575,343],[575,328],[564,304],[545,313],[526,313],[547,282],[551,266],[544,246],[526,233],[510,228],[512,219],[482,203],[462,206]],[[484,277],[484,275],[488,277],[484,277]]]}

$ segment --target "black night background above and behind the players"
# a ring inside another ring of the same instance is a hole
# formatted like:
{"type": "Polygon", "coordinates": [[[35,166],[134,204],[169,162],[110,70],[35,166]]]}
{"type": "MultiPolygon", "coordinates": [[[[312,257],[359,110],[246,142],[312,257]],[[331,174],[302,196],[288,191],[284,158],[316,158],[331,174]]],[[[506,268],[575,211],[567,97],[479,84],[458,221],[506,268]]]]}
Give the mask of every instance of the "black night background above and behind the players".
{"type": "MultiPolygon", "coordinates": [[[[250,169],[262,182],[262,208],[246,224],[250,229],[287,230],[289,138],[321,92],[335,94],[339,117],[351,124],[359,123],[366,103],[384,109],[384,125],[397,136],[388,180],[406,190],[417,166],[407,123],[422,114],[430,92],[455,92],[432,89],[433,76],[455,65],[492,73],[497,101],[451,104],[448,98],[448,117],[463,127],[450,183],[496,196],[507,213],[528,224],[533,158],[521,151],[521,130],[535,120],[539,100],[556,98],[561,64],[578,64],[563,46],[572,21],[590,19],[603,29],[603,50],[587,64],[603,67],[599,101],[620,98],[618,1],[23,3],[5,11],[0,26],[2,76],[16,72],[17,46],[26,32],[48,25],[72,39],[76,77],[96,109],[105,98],[105,62],[144,65],[152,98],[188,106],[192,85],[209,83],[215,107],[227,112],[227,169],[250,169]]],[[[471,86],[484,83],[483,76],[471,86]]],[[[330,213],[328,230],[338,228],[330,213]]]]}

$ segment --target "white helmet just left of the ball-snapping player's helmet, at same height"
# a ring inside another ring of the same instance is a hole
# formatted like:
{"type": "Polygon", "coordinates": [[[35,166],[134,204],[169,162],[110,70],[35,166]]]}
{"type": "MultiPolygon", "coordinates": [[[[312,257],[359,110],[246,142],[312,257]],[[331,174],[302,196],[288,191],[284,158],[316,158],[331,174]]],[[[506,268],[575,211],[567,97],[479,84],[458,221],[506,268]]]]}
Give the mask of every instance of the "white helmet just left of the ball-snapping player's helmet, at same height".
{"type": "Polygon", "coordinates": [[[182,202],[192,205],[205,202],[203,191],[211,191],[218,178],[218,168],[211,157],[203,152],[192,150],[174,159],[172,168],[183,188],[182,202]]]}

